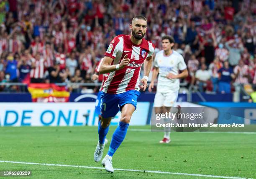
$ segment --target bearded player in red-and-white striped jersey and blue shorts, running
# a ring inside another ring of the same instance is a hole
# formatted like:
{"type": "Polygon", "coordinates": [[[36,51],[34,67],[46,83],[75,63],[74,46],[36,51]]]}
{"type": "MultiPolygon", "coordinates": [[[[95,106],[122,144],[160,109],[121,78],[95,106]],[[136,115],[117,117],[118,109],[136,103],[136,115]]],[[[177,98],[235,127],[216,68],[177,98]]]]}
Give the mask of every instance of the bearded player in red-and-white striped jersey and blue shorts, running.
{"type": "Polygon", "coordinates": [[[154,45],[143,39],[147,30],[147,20],[135,16],[130,25],[131,35],[118,35],[110,43],[105,53],[100,73],[109,73],[101,94],[101,120],[98,125],[99,141],[94,153],[95,162],[100,162],[105,146],[110,121],[118,111],[121,119],[112,136],[107,155],[102,165],[107,172],[114,172],[112,157],[123,142],[131,116],[136,109],[140,89],[145,91],[152,65],[154,45]],[[139,80],[144,63],[144,77],[139,80]],[[141,85],[140,85],[141,83],[141,85]]]}

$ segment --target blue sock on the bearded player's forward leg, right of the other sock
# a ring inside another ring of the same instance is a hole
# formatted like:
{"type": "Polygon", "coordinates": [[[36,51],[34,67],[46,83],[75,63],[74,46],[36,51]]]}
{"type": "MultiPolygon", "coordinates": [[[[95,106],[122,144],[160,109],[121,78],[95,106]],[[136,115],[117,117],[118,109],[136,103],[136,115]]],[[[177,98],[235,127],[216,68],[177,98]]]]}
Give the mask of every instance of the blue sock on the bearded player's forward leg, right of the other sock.
{"type": "Polygon", "coordinates": [[[109,156],[112,157],[116,149],[118,149],[120,144],[123,142],[123,139],[125,138],[128,127],[129,127],[129,124],[124,122],[119,122],[119,126],[115,129],[115,132],[112,136],[112,140],[110,143],[110,147],[108,149],[109,156]]]}

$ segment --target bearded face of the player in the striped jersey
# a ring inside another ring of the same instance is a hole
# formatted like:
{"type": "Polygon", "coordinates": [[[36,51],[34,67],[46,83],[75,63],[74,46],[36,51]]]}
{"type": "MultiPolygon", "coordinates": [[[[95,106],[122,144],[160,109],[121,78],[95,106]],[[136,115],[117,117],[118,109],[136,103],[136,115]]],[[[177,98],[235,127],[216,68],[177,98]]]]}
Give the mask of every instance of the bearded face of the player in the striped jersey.
{"type": "Polygon", "coordinates": [[[141,40],[147,31],[147,22],[142,19],[135,19],[130,25],[132,35],[137,40],[141,40]]]}

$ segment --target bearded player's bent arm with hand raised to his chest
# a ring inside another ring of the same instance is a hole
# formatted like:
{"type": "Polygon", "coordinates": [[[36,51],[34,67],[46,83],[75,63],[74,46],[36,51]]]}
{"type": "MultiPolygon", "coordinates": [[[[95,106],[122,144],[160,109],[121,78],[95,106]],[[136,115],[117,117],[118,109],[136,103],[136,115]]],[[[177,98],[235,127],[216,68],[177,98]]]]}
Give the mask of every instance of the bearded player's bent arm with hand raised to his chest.
{"type": "Polygon", "coordinates": [[[131,61],[129,58],[127,58],[127,56],[128,55],[126,54],[123,57],[123,60],[121,60],[121,62],[117,65],[110,65],[114,59],[111,57],[105,56],[102,64],[100,65],[100,70],[99,70],[100,74],[110,73],[110,72],[114,72],[116,70],[123,69],[131,61]]]}

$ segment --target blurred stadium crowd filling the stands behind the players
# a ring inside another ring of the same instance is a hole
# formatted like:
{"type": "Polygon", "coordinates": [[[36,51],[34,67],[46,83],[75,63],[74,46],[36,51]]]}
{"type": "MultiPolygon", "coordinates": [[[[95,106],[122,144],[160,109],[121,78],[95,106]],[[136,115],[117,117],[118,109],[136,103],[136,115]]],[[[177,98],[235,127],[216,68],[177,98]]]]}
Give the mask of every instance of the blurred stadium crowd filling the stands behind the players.
{"type": "Polygon", "coordinates": [[[163,35],[174,37],[188,85],[256,85],[256,0],[0,0],[0,82],[92,82],[110,41],[129,34],[138,14],[155,52],[163,35]]]}

